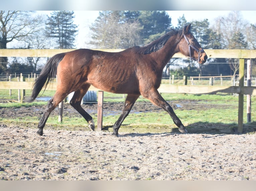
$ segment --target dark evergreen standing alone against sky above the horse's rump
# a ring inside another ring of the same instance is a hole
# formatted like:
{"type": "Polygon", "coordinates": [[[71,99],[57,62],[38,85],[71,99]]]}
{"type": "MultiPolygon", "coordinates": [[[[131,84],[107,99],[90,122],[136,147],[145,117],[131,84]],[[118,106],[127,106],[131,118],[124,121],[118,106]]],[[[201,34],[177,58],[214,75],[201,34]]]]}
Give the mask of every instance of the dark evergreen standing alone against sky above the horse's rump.
{"type": "Polygon", "coordinates": [[[55,39],[59,49],[74,48],[77,25],[74,24],[74,11],[53,11],[46,23],[47,36],[55,39]]]}

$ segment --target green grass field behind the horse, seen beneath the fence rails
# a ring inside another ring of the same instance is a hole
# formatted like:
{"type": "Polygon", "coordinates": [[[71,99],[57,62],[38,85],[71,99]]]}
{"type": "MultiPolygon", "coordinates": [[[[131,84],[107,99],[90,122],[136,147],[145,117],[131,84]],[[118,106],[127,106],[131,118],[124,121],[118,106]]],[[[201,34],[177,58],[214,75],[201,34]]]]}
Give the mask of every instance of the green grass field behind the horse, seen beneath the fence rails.
{"type": "MultiPolygon", "coordinates": [[[[13,91],[14,92],[14,91],[13,91]]],[[[42,93],[42,92],[41,92],[42,93]]],[[[29,96],[31,94],[30,91],[26,91],[26,95],[29,96]]],[[[52,96],[54,91],[45,91],[43,96],[52,96]]],[[[9,91],[0,91],[0,99],[15,99],[15,97],[8,97],[9,91]]],[[[13,93],[14,96],[14,93],[13,93]]],[[[120,102],[123,103],[125,95],[122,94],[112,94],[108,92],[104,92],[104,102],[120,102]]],[[[175,103],[183,103],[184,100],[188,100],[189,104],[191,104],[189,109],[175,109],[176,115],[180,118],[185,126],[189,127],[214,127],[214,126],[228,126],[230,128],[237,126],[238,120],[238,96],[227,95],[227,94],[217,94],[217,95],[190,95],[190,94],[162,94],[166,101],[169,101],[170,104],[172,102],[175,103]],[[195,104],[195,108],[193,109],[193,103],[195,104]],[[196,107],[197,105],[201,105],[200,107],[196,107]],[[211,107],[210,105],[215,105],[215,107],[211,107]],[[223,107],[225,105],[225,108],[223,107]]],[[[255,105],[255,96],[252,96],[252,120],[253,113],[256,112],[255,105]]],[[[144,102],[149,102],[147,99],[142,96],[139,97],[136,103],[143,104],[144,102]]],[[[136,104],[135,103],[135,104],[136,104]]],[[[5,107],[29,107],[33,105],[46,105],[46,101],[35,101],[32,103],[17,103],[17,102],[1,102],[0,110],[5,107]]],[[[146,105],[145,105],[146,107],[146,105]]],[[[121,113],[121,110],[120,110],[121,113]]],[[[119,114],[116,115],[108,115],[103,117],[103,126],[110,127],[112,126],[119,114]]],[[[104,111],[103,111],[104,114],[104,111]]],[[[1,114],[0,114],[1,115],[1,114]]],[[[97,121],[97,115],[92,116],[95,121],[97,121]]],[[[246,123],[246,96],[244,98],[244,123],[246,123]]],[[[0,122],[3,123],[11,123],[11,124],[26,124],[26,126],[37,126],[38,117],[22,117],[22,118],[1,118],[0,122]]],[[[97,123],[97,122],[96,122],[97,123]]],[[[69,118],[63,116],[63,122],[58,123],[56,116],[50,115],[47,120],[47,125],[51,125],[54,127],[64,127],[70,129],[81,129],[86,126],[87,123],[84,118],[74,117],[69,118]]],[[[167,129],[169,127],[176,127],[171,120],[170,116],[164,111],[160,112],[140,112],[140,113],[130,113],[127,118],[124,120],[122,124],[122,129],[127,128],[159,128],[159,129],[167,129]]]]}

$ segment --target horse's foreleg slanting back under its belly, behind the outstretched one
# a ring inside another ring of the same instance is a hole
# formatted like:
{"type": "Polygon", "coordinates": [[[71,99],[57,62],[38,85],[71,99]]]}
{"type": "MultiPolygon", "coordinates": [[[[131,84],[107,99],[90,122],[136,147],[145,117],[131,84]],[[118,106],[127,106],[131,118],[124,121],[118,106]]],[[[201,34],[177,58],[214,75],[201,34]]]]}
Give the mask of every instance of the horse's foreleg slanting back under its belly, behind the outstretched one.
{"type": "Polygon", "coordinates": [[[133,95],[128,94],[124,103],[123,113],[120,115],[118,120],[115,122],[113,126],[113,135],[118,136],[118,129],[120,128],[122,122],[124,121],[125,117],[129,114],[129,112],[132,109],[132,106],[134,105],[135,101],[138,99],[140,95],[133,95]]]}

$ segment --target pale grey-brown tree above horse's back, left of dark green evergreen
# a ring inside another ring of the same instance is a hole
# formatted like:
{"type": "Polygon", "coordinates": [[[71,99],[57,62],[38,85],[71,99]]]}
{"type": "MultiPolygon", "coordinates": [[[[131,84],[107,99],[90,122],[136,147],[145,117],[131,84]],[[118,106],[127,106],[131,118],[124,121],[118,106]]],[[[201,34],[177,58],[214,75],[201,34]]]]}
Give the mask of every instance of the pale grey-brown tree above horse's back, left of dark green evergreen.
{"type": "Polygon", "coordinates": [[[100,11],[90,27],[95,48],[125,49],[140,43],[138,22],[128,22],[123,11],[100,11]]]}

